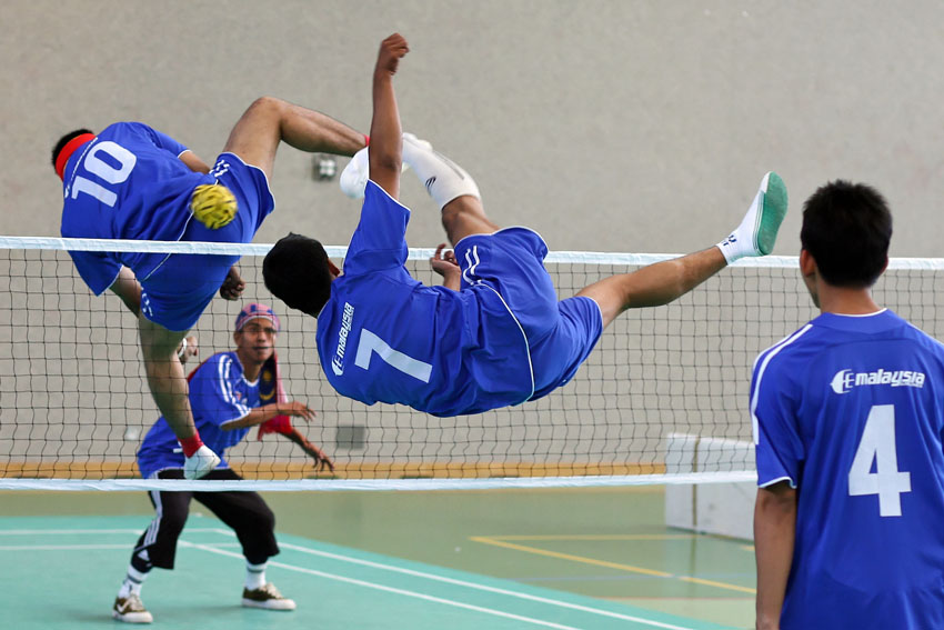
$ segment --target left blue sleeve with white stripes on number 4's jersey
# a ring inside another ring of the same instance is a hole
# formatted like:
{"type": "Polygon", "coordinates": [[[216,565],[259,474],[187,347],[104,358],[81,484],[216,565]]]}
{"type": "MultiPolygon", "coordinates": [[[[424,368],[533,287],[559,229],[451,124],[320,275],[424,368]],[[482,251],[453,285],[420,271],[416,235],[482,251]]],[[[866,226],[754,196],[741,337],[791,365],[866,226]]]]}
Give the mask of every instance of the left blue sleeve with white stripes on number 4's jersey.
{"type": "Polygon", "coordinates": [[[801,481],[805,449],[796,424],[799,407],[782,362],[757,361],[751,382],[751,419],[757,459],[757,486],[801,481]]]}

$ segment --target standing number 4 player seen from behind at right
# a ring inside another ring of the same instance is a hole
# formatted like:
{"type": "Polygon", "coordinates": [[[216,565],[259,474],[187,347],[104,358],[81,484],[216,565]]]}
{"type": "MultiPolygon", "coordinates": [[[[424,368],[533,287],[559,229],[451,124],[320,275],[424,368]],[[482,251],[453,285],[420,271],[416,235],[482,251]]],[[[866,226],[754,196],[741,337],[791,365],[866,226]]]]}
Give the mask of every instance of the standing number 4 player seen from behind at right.
{"type": "Polygon", "coordinates": [[[821,314],[754,363],[757,628],[944,628],[944,346],[881,308],[892,216],[864,184],[806,201],[821,314]]]}

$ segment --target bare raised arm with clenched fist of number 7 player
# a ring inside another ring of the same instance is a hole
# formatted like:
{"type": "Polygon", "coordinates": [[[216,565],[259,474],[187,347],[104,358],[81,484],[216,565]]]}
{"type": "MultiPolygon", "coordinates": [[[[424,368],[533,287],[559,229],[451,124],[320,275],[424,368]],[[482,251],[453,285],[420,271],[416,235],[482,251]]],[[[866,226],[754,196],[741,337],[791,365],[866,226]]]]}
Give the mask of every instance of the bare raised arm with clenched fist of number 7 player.
{"type": "Polygon", "coordinates": [[[394,33],[383,40],[373,71],[373,119],[371,120],[370,179],[393,199],[400,198],[400,111],[393,92],[393,76],[409,52],[406,40],[394,33]]]}

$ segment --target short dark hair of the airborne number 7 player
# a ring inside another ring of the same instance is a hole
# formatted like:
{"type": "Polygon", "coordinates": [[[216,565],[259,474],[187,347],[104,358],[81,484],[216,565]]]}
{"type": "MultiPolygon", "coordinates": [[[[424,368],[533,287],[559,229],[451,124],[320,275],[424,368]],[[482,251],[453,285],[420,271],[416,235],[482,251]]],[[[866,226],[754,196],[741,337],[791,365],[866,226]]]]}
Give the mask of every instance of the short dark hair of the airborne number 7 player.
{"type": "Polygon", "coordinates": [[[262,261],[262,278],[272,294],[298,309],[318,317],[331,297],[331,269],[328,253],[314,239],[289,232],[262,261]]]}

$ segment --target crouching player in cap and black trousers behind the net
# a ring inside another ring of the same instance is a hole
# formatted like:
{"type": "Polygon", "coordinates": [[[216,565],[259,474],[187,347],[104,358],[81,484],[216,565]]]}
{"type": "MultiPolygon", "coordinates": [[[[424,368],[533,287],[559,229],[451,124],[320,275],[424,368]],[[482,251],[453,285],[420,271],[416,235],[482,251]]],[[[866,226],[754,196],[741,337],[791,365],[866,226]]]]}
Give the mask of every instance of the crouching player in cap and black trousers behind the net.
{"type": "MultiPolygon", "coordinates": [[[[281,391],[275,338],[279,318],[264,304],[248,304],[235,320],[235,350],[213,354],[190,374],[190,402],[201,436],[214,452],[234,447],[252,427],[259,426],[260,438],[277,432],[298,443],[320,468],[334,469],[331,460],[304,439],[291,424],[290,416],[310,421],[314,411],[303,402],[290,401],[281,391]]],[[[160,418],[141,442],[138,468],[145,479],[181,479],[183,454],[164,418],[160,418]]],[[[225,462],[205,479],[234,481],[242,479],[225,462]]],[[[173,569],[177,543],[191,499],[210,509],[231,527],[245,557],[245,588],[242,604],[269,610],[292,610],[295,604],[283,598],[265,580],[265,563],[279,553],[274,516],[257,492],[179,492],[149,493],[157,514],[138,539],[128,573],[112,607],[112,617],[130,623],[150,623],[151,613],[141,602],[141,587],[151,569],[173,569]]]]}

